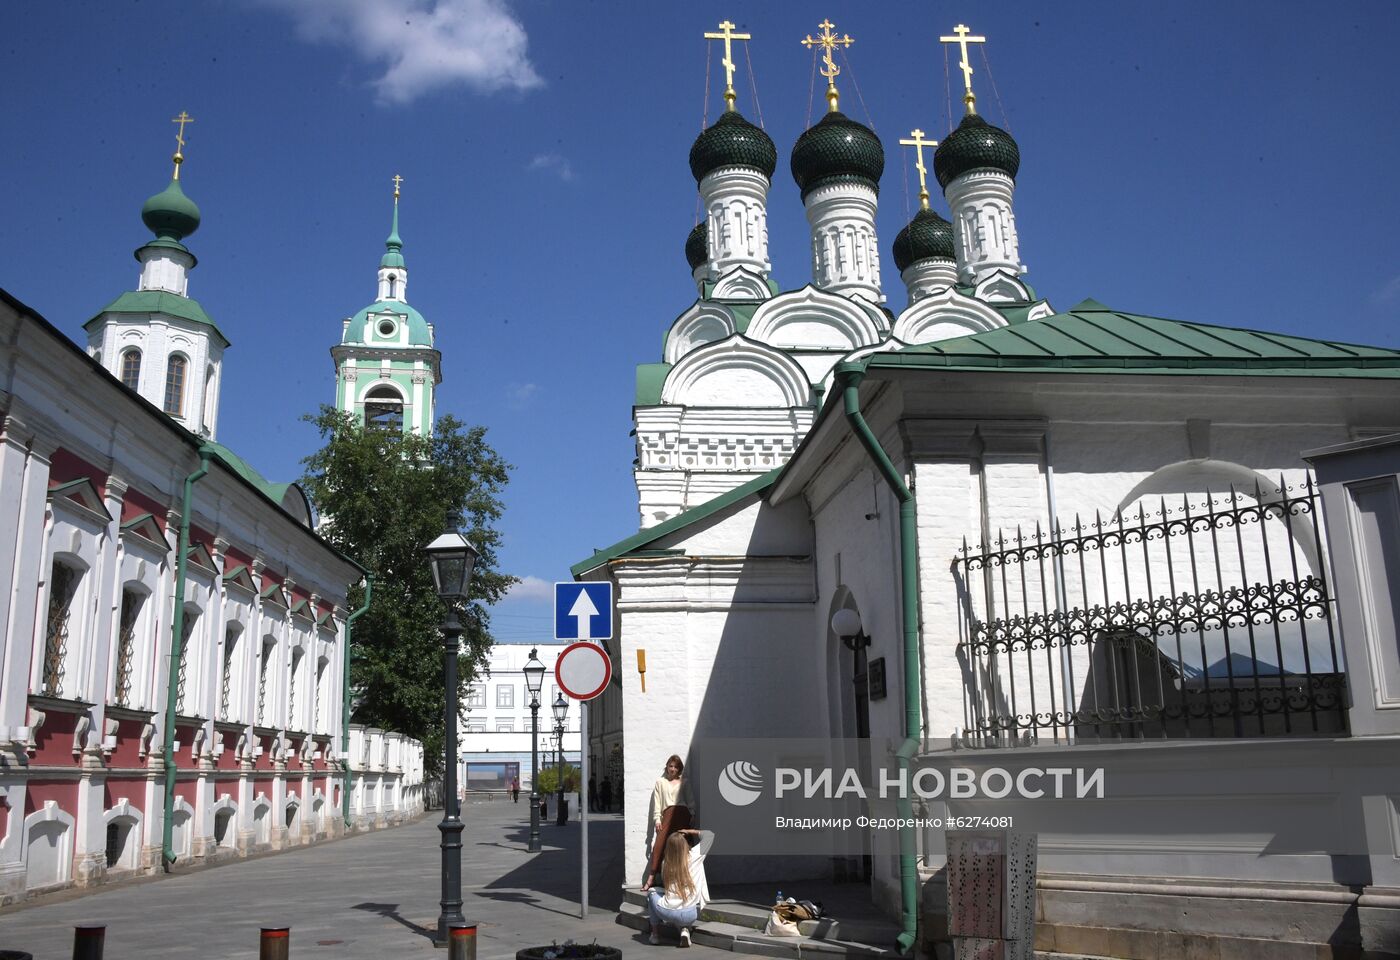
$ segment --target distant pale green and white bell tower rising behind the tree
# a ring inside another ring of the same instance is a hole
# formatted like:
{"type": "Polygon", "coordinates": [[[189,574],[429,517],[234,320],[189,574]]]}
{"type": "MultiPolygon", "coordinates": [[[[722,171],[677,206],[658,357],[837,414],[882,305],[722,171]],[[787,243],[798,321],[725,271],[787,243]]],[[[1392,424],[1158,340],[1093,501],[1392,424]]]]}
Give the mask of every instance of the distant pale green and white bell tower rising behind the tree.
{"type": "Polygon", "coordinates": [[[409,271],[399,238],[399,178],[393,225],[379,259],[378,298],[344,320],[336,364],[336,409],[365,427],[433,434],[442,354],[433,325],[407,302],[409,271]]]}

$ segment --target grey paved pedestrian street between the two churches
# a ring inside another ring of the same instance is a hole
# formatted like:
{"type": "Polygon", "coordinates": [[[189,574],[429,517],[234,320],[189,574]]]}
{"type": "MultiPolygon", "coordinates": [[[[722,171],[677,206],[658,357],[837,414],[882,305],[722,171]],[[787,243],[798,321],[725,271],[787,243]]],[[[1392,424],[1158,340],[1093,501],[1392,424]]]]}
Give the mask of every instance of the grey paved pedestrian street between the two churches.
{"type": "MultiPolygon", "coordinates": [[[[462,813],[462,912],[479,925],[479,960],[566,939],[596,939],[633,956],[669,953],[615,922],[622,819],[589,817],[591,910],[580,919],[580,824],[542,824],[543,849],[531,856],[528,810],[522,799],[470,803],[462,813]]],[[[67,960],[74,924],[97,922],[108,925],[106,960],[252,960],[259,926],[290,925],[293,960],[444,957],[430,939],[441,883],[440,819],[433,812],[305,849],[7,907],[0,910],[0,950],[67,960]]],[[[721,956],[692,949],[697,956],[690,960],[721,956]]]]}

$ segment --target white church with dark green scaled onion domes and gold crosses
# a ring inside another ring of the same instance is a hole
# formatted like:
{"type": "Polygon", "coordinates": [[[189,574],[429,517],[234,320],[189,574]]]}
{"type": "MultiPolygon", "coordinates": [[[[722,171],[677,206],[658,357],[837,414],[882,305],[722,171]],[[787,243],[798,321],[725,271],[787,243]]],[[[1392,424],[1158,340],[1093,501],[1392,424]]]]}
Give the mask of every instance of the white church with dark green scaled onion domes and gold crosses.
{"type": "MultiPolygon", "coordinates": [[[[830,111],[791,153],[808,285],[770,278],[778,155],[732,94],[692,147],[699,297],[637,369],[641,529],[573,567],[617,591],[620,684],[595,737],[620,737],[634,795],[717,737],[868,739],[910,763],[1068,751],[1119,792],[1028,820],[1037,947],[1400,952],[1383,772],[1400,673],[1376,679],[1400,670],[1396,610],[1343,631],[1303,459],[1400,431],[1400,351],[1046,302],[1018,245],[1019,148],[976,113],[970,70],[932,155],[949,217],[925,189],[893,242],[896,292],[875,234],[885,151],[839,112],[832,67],[830,111]],[[1296,833],[1326,817],[1364,845],[1296,833]]],[[[1393,493],[1368,502],[1400,516],[1393,493]]],[[[629,884],[650,824],[629,805],[629,884]]],[[[938,831],[811,844],[809,876],[868,883],[902,947],[942,936],[938,831]]],[[[795,861],[734,854],[721,837],[713,883],[798,886],[795,861]]]]}

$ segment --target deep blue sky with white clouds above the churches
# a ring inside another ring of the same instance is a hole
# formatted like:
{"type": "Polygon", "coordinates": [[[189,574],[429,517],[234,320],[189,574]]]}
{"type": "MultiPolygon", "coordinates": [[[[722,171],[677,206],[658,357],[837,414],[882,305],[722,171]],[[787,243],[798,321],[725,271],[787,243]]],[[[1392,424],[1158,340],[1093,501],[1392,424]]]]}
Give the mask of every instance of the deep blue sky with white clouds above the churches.
{"type": "Polygon", "coordinates": [[[298,417],[333,397],[340,320],[374,298],[402,174],[438,410],[487,425],[515,465],[503,560],[531,579],[497,633],[542,640],[545,585],[637,528],[634,367],[661,358],[694,298],[701,34],[722,18],[753,34],[739,106],[759,119],[752,60],[780,154],[774,277],[794,288],[809,262],[787,157],[822,109],[798,41],[823,17],[855,38],[843,109],[885,141],[895,309],[889,245],[917,204],[896,140],[959,116],[937,36],[967,22],[988,38],[981,113],[1021,146],[1028,280],[1053,305],[1400,347],[1390,1],[7,4],[0,285],[80,339],[136,284],[140,206],[168,181],[169,118],[189,111],[190,294],[234,344],[220,439],[291,479],[315,445],[298,417]]]}

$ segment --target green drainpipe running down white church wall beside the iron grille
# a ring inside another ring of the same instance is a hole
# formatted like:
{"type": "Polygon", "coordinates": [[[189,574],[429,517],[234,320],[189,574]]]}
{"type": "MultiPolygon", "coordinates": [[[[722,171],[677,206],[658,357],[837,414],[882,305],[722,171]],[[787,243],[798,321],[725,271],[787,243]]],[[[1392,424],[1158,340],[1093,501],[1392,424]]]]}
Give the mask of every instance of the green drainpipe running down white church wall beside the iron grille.
{"type": "MultiPolygon", "coordinates": [[[[885,483],[899,498],[899,565],[900,585],[903,595],[902,620],[904,626],[904,742],[900,743],[895,756],[899,757],[900,775],[909,782],[909,765],[918,750],[920,711],[918,711],[918,550],[914,525],[914,494],[904,484],[904,479],[890,463],[889,456],[881,448],[869,424],[861,416],[860,385],[865,379],[865,365],[858,362],[843,362],[836,365],[837,383],[846,400],[846,420],[851,424],[851,431],[860,439],[861,446],[869,453],[871,460],[879,469],[885,483]]],[[[899,819],[910,821],[914,819],[914,803],[909,798],[909,791],[902,791],[896,800],[899,819]]],[[[899,879],[903,900],[903,932],[899,935],[900,953],[910,953],[918,939],[918,869],[916,863],[914,828],[900,827],[899,831],[899,879]]]]}

